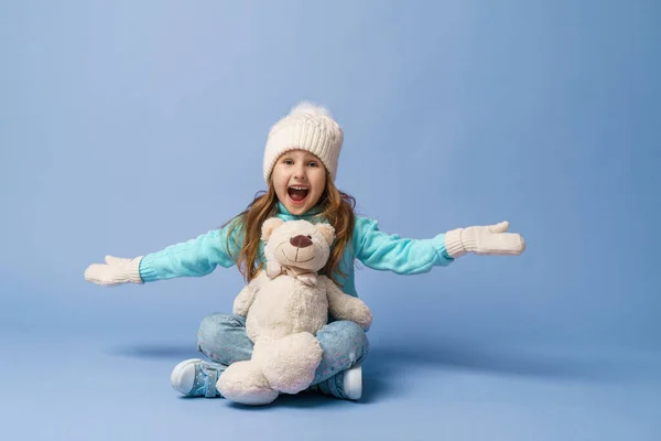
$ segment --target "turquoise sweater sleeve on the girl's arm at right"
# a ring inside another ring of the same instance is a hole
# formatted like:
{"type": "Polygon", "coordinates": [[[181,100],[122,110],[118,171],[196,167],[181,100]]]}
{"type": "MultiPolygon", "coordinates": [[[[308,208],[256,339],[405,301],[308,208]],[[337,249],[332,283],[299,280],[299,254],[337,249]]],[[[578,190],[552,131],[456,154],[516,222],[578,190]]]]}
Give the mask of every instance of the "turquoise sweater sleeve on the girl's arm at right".
{"type": "Polygon", "coordinates": [[[401,238],[380,232],[378,222],[367,217],[356,216],[353,243],[356,258],[367,267],[398,275],[429,272],[454,261],[445,249],[445,234],[432,239],[401,238]]]}

